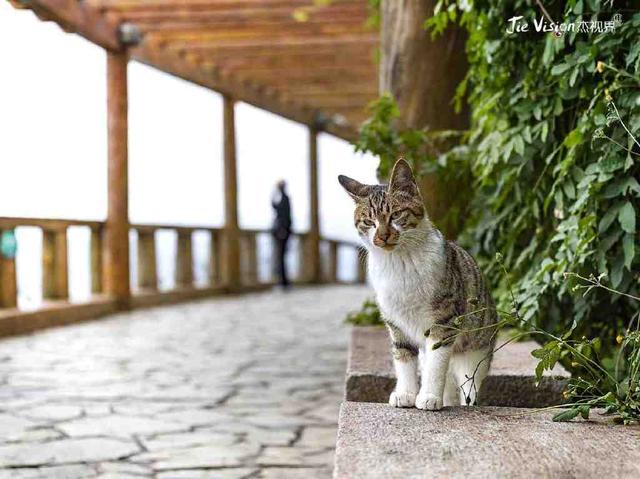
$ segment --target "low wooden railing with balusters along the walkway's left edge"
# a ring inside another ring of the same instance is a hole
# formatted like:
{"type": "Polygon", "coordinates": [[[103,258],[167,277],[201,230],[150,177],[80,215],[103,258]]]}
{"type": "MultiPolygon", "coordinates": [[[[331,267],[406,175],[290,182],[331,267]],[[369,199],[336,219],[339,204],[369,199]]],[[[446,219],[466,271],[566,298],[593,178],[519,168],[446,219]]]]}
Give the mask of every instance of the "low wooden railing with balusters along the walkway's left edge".
{"type": "MultiPolygon", "coordinates": [[[[18,308],[16,258],[0,254],[0,335],[20,333],[89,319],[121,309],[122,304],[115,301],[103,287],[103,271],[106,255],[103,236],[106,223],[100,221],[57,220],[37,218],[0,217],[0,236],[4,232],[15,234],[16,228],[36,227],[42,230],[42,305],[35,311],[21,311],[18,308]],[[70,227],[86,227],[90,230],[90,280],[92,297],[84,304],[69,303],[69,242],[70,227]],[[31,320],[31,321],[29,321],[31,320]],[[31,324],[28,324],[31,322],[31,324]]],[[[137,236],[136,277],[131,283],[131,300],[126,307],[144,307],[158,304],[206,297],[215,294],[241,293],[270,287],[275,278],[270,274],[272,257],[263,250],[270,240],[269,230],[246,229],[237,233],[240,251],[240,271],[238,284],[231,287],[225,275],[224,228],[201,226],[181,226],[170,224],[131,224],[130,231],[137,236]],[[169,290],[160,288],[157,232],[173,231],[177,237],[174,264],[175,286],[169,290]],[[194,233],[209,235],[210,251],[207,261],[206,285],[195,283],[194,274],[194,233]],[[202,234],[202,233],[200,233],[202,234]],[[261,241],[259,241],[261,239],[261,241]],[[262,247],[260,246],[262,245],[262,247]],[[267,270],[265,274],[265,268],[267,270]],[[262,273],[262,274],[261,274],[262,273]]],[[[321,238],[321,275],[312,277],[312,267],[308,262],[310,235],[294,234],[293,244],[298,245],[294,252],[298,268],[289,265],[291,277],[295,283],[312,282],[331,283],[338,281],[341,249],[356,249],[357,245],[343,241],[321,238]],[[297,241],[296,241],[297,240],[297,241]]],[[[20,244],[17,245],[20,248],[20,244]]],[[[271,254],[273,254],[273,248],[271,254]]],[[[361,252],[355,257],[353,265],[357,268],[355,281],[364,281],[361,252]]],[[[133,255],[132,255],[133,256],[133,255]]],[[[131,272],[130,272],[131,275],[131,272]]]]}

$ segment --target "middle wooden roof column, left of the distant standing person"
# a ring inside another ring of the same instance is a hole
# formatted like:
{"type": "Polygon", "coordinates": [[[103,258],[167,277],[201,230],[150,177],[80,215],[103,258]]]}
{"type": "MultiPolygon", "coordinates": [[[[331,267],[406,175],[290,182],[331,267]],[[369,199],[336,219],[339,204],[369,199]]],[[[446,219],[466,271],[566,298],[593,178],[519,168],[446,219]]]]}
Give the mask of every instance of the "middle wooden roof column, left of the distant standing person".
{"type": "Polygon", "coordinates": [[[224,242],[223,281],[231,289],[240,286],[240,250],[238,245],[238,172],[236,166],[236,125],[234,101],[224,97],[224,242]]]}

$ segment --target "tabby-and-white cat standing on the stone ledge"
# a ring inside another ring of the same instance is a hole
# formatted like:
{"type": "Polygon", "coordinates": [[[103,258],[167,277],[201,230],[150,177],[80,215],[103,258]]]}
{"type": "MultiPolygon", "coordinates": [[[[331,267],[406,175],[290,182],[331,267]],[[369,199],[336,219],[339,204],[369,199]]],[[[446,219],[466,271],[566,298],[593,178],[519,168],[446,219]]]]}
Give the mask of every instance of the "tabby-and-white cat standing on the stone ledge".
{"type": "Polygon", "coordinates": [[[389,404],[427,410],[475,404],[497,323],[476,262],[431,223],[404,159],[388,185],[344,175],[338,181],[355,201],[369,280],[391,337],[397,382],[389,404]]]}

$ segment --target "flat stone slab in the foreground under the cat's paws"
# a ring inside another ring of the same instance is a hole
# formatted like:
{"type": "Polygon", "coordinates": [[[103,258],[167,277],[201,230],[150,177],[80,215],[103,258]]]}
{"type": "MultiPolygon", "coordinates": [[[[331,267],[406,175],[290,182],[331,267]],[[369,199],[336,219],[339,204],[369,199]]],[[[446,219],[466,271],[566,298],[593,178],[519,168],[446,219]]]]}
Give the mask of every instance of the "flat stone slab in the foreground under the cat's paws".
{"type": "Polygon", "coordinates": [[[334,479],[638,478],[640,427],[549,411],[343,403],[334,479]]]}

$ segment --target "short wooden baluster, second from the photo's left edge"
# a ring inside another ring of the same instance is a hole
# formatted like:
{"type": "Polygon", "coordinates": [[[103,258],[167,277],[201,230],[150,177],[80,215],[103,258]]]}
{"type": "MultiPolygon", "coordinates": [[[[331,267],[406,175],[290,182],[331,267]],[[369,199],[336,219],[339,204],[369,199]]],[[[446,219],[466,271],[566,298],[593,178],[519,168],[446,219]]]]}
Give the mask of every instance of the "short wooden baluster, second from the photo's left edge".
{"type": "Polygon", "coordinates": [[[69,298],[67,229],[42,232],[42,296],[69,298]]]}

